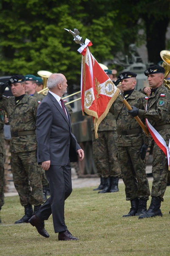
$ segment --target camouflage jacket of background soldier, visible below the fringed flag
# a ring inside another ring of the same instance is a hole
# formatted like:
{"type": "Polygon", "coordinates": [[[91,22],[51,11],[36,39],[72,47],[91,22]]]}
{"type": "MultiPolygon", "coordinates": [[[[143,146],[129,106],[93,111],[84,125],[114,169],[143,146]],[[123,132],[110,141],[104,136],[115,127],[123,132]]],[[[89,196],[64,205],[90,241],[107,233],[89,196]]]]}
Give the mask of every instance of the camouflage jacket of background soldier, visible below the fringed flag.
{"type": "MultiPolygon", "coordinates": [[[[94,124],[91,122],[91,131],[94,131],[94,124]]],[[[99,124],[98,131],[116,131],[116,119],[111,112],[99,124]]]]}

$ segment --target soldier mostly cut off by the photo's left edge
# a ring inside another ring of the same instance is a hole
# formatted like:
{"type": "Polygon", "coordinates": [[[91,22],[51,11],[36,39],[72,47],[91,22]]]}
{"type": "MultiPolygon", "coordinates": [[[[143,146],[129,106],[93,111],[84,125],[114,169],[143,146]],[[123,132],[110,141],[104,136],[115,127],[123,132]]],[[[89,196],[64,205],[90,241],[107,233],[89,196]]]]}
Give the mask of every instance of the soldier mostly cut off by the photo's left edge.
{"type": "MultiPolygon", "coordinates": [[[[0,109],[0,210],[1,207],[4,205],[4,185],[5,185],[5,179],[4,179],[4,150],[3,150],[3,144],[4,144],[4,138],[3,138],[3,126],[5,124],[5,112],[0,109]]],[[[1,219],[0,219],[1,223],[1,219]]]]}

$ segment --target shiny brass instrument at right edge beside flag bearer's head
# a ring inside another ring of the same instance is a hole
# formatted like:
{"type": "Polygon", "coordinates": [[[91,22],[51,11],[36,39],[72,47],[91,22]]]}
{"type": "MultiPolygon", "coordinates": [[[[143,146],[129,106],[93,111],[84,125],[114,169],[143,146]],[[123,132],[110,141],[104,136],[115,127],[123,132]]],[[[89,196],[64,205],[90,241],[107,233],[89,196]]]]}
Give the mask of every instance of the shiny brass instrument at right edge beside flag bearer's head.
{"type": "Polygon", "coordinates": [[[166,77],[170,73],[170,51],[163,50],[160,52],[161,58],[163,60],[161,66],[164,67],[165,74],[164,74],[164,86],[170,90],[170,80],[167,80],[166,77]]]}

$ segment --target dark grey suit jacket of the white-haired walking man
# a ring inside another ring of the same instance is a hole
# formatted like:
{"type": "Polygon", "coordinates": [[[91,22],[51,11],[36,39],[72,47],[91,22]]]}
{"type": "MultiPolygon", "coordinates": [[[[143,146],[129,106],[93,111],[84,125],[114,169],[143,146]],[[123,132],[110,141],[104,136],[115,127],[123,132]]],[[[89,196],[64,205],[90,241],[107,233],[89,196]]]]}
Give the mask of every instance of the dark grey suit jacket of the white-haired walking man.
{"type": "MultiPolygon", "coordinates": [[[[67,111],[67,110],[66,110],[67,111]]],[[[51,165],[65,166],[77,161],[77,140],[71,132],[71,120],[48,92],[37,110],[37,160],[38,163],[51,160],[51,165]]]]}

